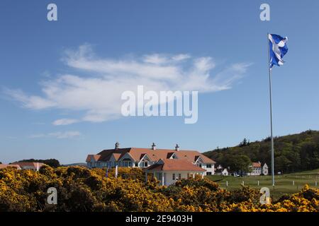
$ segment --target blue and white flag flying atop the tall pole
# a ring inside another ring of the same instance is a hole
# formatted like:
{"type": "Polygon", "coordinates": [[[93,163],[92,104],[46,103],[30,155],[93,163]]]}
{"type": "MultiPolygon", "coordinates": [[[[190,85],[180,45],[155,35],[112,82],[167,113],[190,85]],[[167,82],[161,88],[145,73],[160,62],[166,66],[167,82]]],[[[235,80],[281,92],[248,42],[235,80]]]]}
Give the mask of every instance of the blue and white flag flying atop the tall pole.
{"type": "Polygon", "coordinates": [[[281,37],[280,35],[269,34],[269,66],[270,69],[274,65],[281,66],[284,64],[282,59],[284,55],[288,52],[288,47],[286,42],[288,37],[281,37]]]}

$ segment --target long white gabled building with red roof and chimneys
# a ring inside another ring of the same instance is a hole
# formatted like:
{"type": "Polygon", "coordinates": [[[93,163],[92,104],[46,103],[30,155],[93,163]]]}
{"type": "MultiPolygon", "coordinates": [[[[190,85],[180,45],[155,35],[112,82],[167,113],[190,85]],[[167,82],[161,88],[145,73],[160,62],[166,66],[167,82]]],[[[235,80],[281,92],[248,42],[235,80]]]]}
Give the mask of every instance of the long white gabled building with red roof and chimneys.
{"type": "MultiPolygon", "coordinates": [[[[204,171],[201,171],[203,175],[214,174],[216,163],[197,150],[179,150],[179,145],[176,145],[174,149],[157,149],[155,143],[152,144],[152,148],[120,148],[119,143],[116,143],[113,149],[102,150],[97,155],[88,155],[86,164],[89,168],[115,167],[118,165],[118,167],[145,169],[159,164],[159,160],[185,160],[203,169],[204,171]]],[[[181,163],[181,161],[173,162],[176,165],[181,163]]]]}

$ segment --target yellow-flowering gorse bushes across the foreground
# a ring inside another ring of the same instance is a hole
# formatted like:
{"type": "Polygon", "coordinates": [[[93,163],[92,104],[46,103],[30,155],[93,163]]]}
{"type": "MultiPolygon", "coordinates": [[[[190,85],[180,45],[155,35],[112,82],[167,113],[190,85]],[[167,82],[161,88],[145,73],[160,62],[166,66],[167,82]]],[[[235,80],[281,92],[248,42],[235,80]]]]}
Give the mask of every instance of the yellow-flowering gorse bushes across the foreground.
{"type": "Polygon", "coordinates": [[[159,186],[138,168],[86,169],[42,167],[39,172],[0,169],[0,211],[237,211],[318,212],[319,190],[305,186],[297,194],[269,205],[256,189],[227,191],[208,179],[181,179],[159,186]],[[47,189],[57,189],[57,205],[47,203],[47,189]]]}

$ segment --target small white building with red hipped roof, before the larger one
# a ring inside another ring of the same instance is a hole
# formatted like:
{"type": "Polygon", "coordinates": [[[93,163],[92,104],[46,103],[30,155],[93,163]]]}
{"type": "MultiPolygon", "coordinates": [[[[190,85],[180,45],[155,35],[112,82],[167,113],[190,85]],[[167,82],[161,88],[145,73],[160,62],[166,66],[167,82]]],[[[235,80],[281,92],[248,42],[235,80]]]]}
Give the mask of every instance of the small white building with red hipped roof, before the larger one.
{"type": "Polygon", "coordinates": [[[194,178],[196,174],[203,175],[206,170],[198,165],[189,162],[188,160],[179,159],[160,159],[155,164],[143,169],[145,179],[147,180],[147,174],[152,174],[161,185],[169,186],[174,184],[179,179],[194,178]]]}

